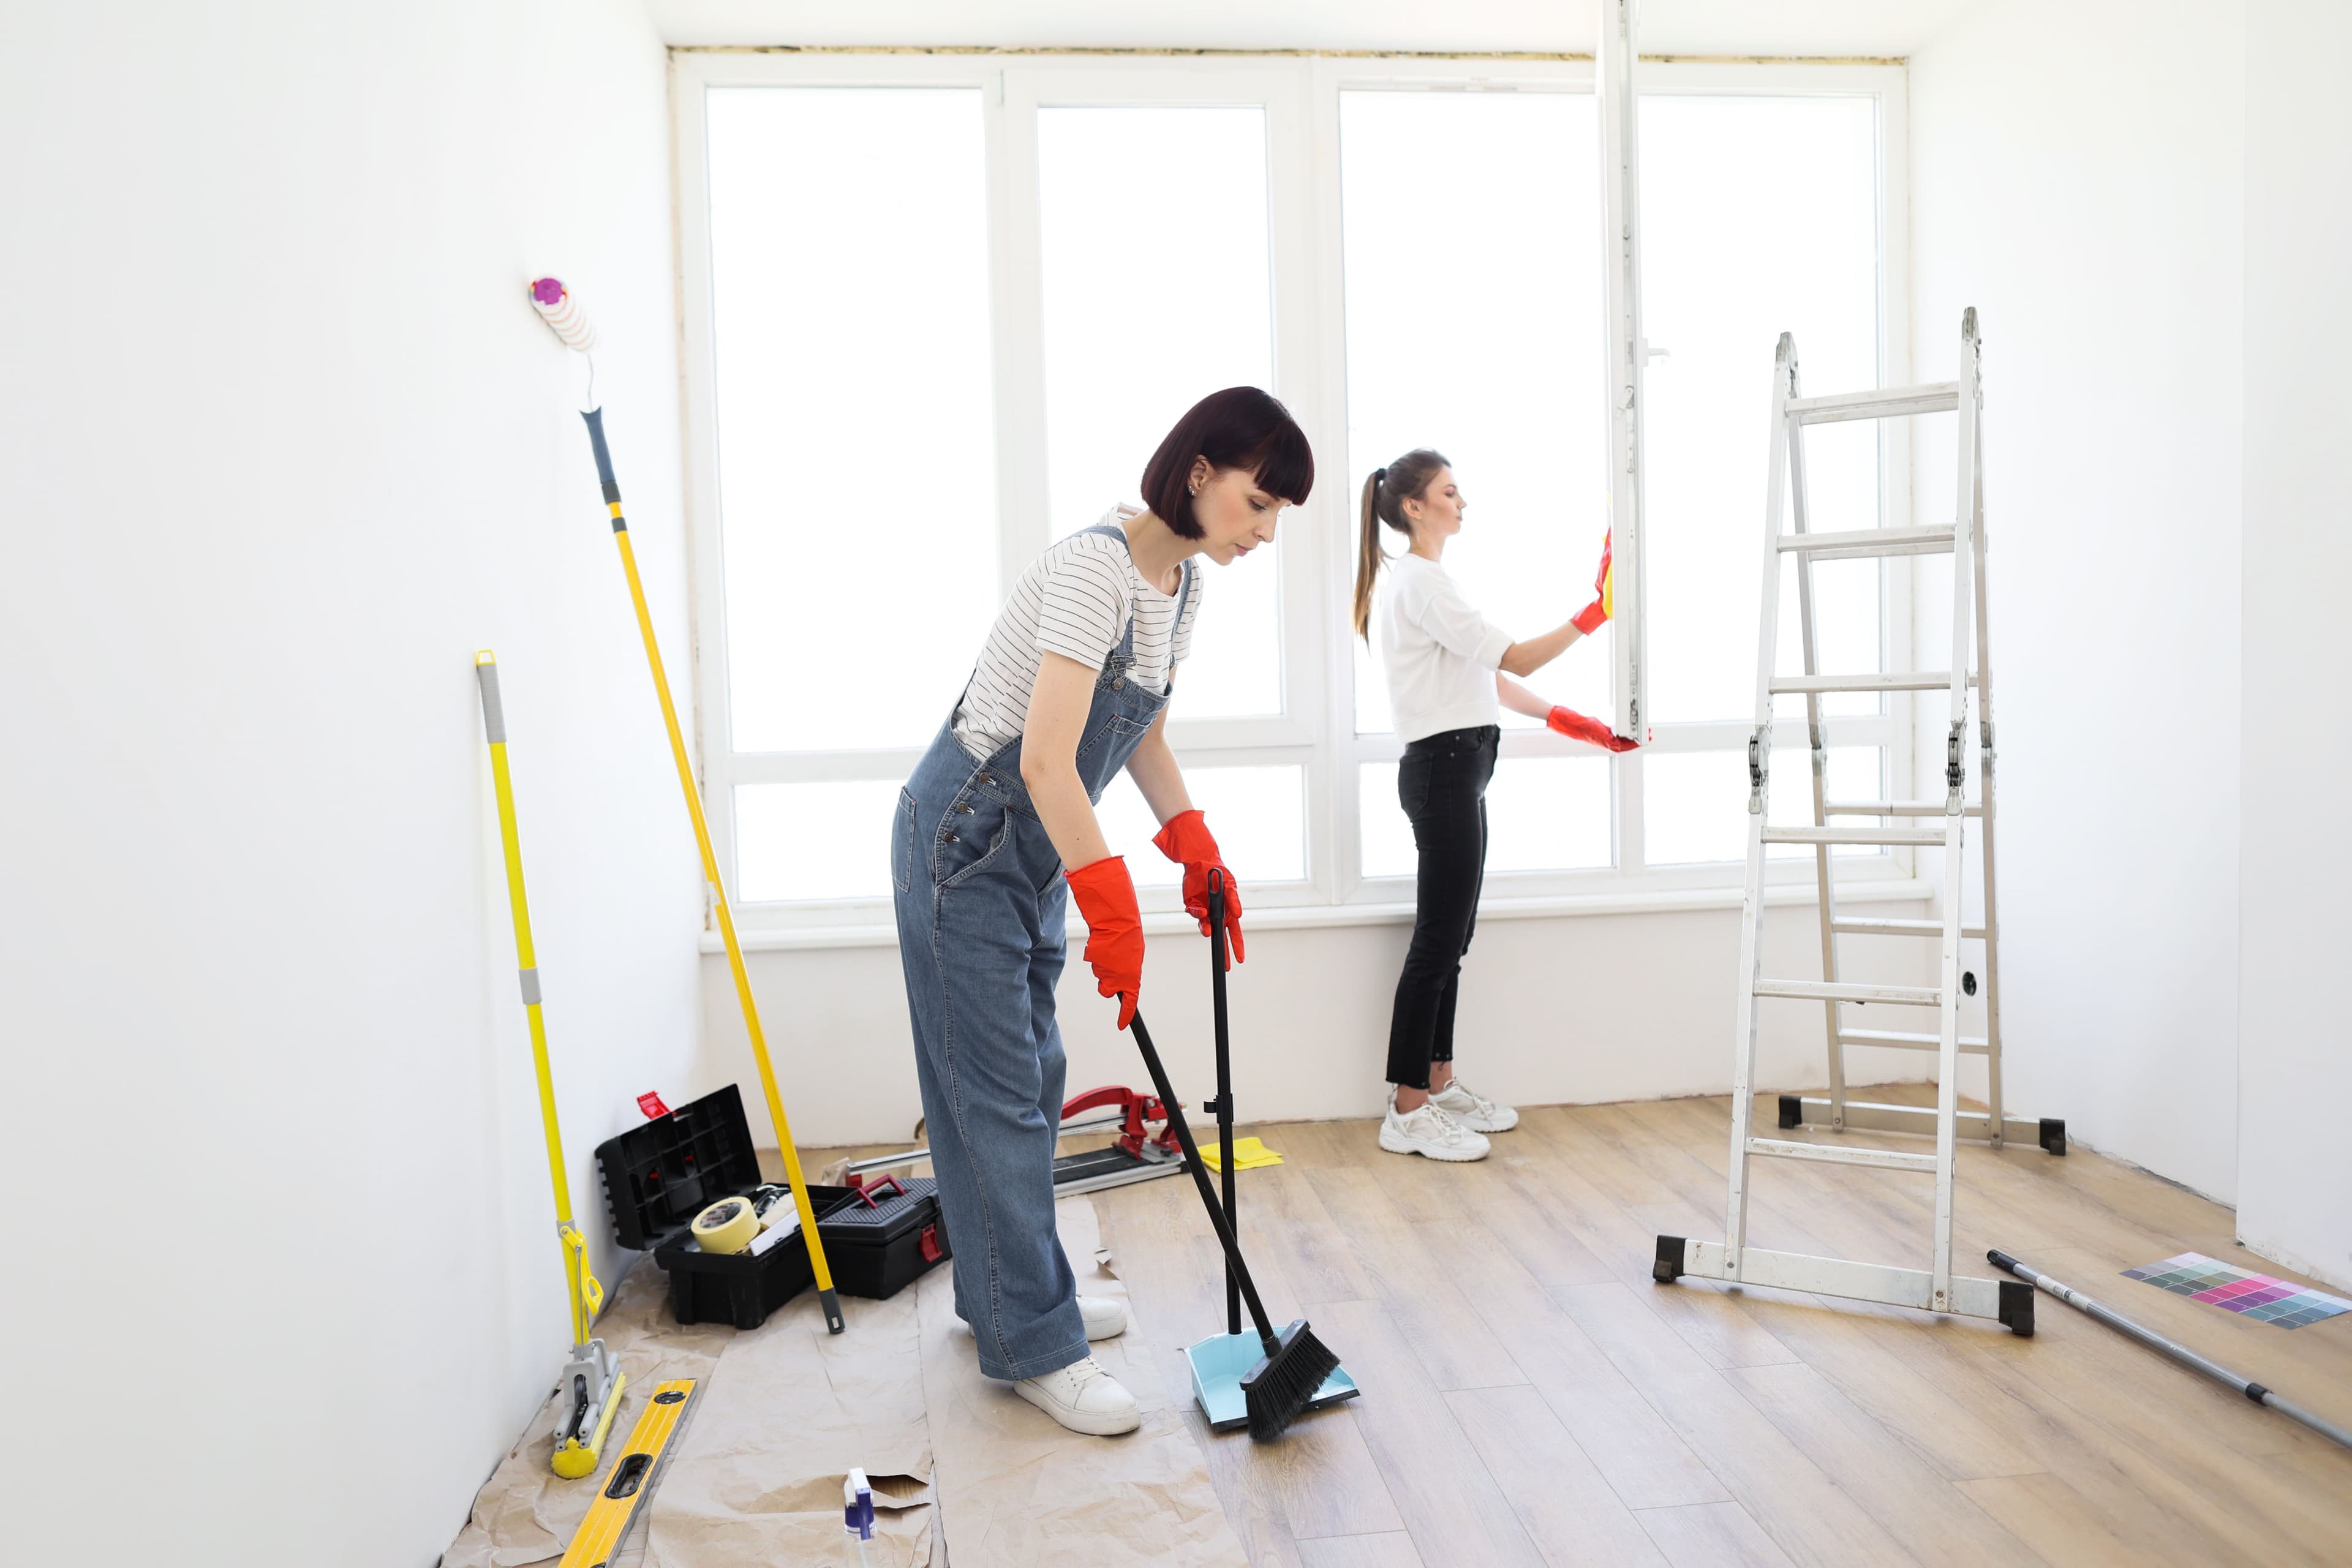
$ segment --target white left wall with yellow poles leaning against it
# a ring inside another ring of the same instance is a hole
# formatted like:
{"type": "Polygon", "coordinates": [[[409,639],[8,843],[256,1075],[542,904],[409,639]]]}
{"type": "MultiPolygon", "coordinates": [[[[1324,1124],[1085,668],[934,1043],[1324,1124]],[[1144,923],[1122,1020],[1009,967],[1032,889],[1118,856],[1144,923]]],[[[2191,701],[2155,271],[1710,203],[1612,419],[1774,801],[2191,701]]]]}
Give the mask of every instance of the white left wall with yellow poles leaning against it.
{"type": "Polygon", "coordinates": [[[602,322],[684,651],[661,45],[630,0],[14,7],[0,146],[7,1556],[421,1568],[567,1345],[477,646],[593,1237],[597,1138],[696,1048],[522,296],[602,322]]]}

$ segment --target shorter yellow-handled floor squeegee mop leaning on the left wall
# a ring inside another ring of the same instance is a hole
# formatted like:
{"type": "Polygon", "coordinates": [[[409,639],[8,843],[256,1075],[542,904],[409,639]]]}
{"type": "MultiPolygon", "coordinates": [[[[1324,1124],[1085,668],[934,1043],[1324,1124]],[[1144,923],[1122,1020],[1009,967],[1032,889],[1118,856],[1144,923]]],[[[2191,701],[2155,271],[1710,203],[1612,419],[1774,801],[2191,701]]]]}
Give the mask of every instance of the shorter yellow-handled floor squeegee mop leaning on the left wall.
{"type": "Polygon", "coordinates": [[[539,954],[532,950],[532,905],[522,896],[522,837],[515,832],[515,783],[506,769],[506,703],[499,696],[499,661],[489,649],[473,656],[482,686],[482,729],[489,736],[489,776],[499,792],[499,842],[506,849],[506,900],[515,914],[515,966],[522,973],[522,1011],[532,1023],[532,1065],[539,1072],[539,1119],[548,1133],[548,1175],[555,1180],[555,1239],[564,1251],[564,1286],[572,1302],[572,1359],[555,1382],[562,1406],[555,1418],[555,1474],[567,1481],[595,1474],[597,1453],[621,1408],[621,1363],[595,1338],[595,1314],[604,1309],[604,1286],[588,1269],[588,1237],[572,1222],[572,1185],[564,1180],[564,1138],[555,1124],[555,1079],[548,1072],[548,1023],[539,1013],[539,954]]]}

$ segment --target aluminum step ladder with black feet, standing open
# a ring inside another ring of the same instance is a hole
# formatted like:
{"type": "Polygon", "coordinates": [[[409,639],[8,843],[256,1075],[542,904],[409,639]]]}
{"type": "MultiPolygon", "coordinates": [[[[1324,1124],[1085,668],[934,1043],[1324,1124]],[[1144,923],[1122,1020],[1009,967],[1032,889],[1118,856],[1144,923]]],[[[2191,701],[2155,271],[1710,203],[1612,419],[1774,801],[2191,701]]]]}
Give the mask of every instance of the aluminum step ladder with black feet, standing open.
{"type": "Polygon", "coordinates": [[[1853,1300],[1999,1319],[2020,1335],[2032,1333],[2032,1286],[2013,1279],[1971,1279],[1952,1274],[1952,1150],[1959,1138],[2002,1147],[2011,1138],[2030,1138],[2051,1154],[2065,1154],[2065,1124],[2027,1121],[2002,1110],[2002,1009],[1999,1009],[1999,917],[1992,882],[1992,661],[1985,642],[1985,489],[1983,489],[1983,383],[1978,376],[1976,308],[1959,324],[1959,381],[1886,388],[1877,393],[1842,393],[1806,397],[1797,374],[1797,341],[1780,334],[1773,357],[1771,393],[1771,475],[1764,501],[1764,609],[1757,628],[1757,726],[1748,738],[1748,889],[1740,900],[1740,1001],[1731,1067],[1731,1192],[1724,1241],[1658,1237],[1651,1274],[1672,1281],[1682,1274],[1724,1279],[1785,1291],[1813,1291],[1853,1300]],[[1879,527],[1844,534],[1809,529],[1804,487],[1804,428],[1856,418],[1903,418],[1912,414],[1959,414],[1959,503],[1950,527],[1879,527]],[[1783,503],[1790,531],[1783,527],[1783,503]],[[1952,555],[1952,663],[1945,670],[1905,670],[1867,675],[1823,675],[1813,623],[1813,562],[1952,555]],[[1804,675],[1776,675],[1780,562],[1797,564],[1797,621],[1804,646],[1804,675]],[[1971,670],[1973,651],[1973,670],[1971,670]],[[1839,691],[1947,691],[1943,797],[1898,802],[1837,802],[1828,797],[1828,745],[1820,698],[1839,691]],[[1978,797],[1969,802],[1969,693],[1976,693],[1978,717],[1978,797]],[[1802,696],[1806,741],[1813,762],[1813,823],[1809,827],[1771,825],[1771,729],[1773,698],[1802,696]],[[1832,825],[1832,818],[1875,818],[1877,825],[1832,825]],[[1940,825],[1905,825],[1940,818],[1940,825]],[[1964,849],[1969,820],[1980,825],[1983,844],[1983,924],[1964,922],[1964,849]],[[1806,844],[1820,898],[1820,980],[1773,980],[1759,973],[1759,924],[1764,917],[1764,856],[1769,844],[1806,844]],[[1943,919],[1844,919],[1837,914],[1830,856],[1839,846],[1915,846],[1943,849],[1945,900],[1943,919]],[[1837,964],[1839,936],[1938,938],[1943,964],[1936,985],[1860,985],[1844,980],[1837,964]],[[1962,943],[1983,943],[1985,1034],[1959,1034],[1962,997],[1978,994],[1973,969],[1962,964],[1962,943]],[[1931,1135],[1936,1152],[1865,1147],[1846,1143],[1797,1143],[1757,1138],[1755,1117],[1755,1039],[1757,999],[1795,999],[1823,1004],[1830,1048],[1828,1098],[1780,1095],[1780,1126],[1825,1126],[1931,1135]],[[1860,1030],[1846,1025],[1849,1006],[1891,1004],[1936,1009],[1933,1034],[1903,1030],[1860,1030]],[[1863,1105],[1846,1098],[1846,1046],[1896,1046],[1936,1051],[1936,1107],[1863,1105]],[[1983,1056],[1987,1072],[1987,1110],[1959,1110],[1959,1058],[1983,1056]],[[1842,1258],[1809,1258],[1748,1246],[1748,1161],[1811,1159],[1879,1171],[1915,1171],[1936,1178],[1936,1232],[1929,1269],[1907,1269],[1842,1258]]]}

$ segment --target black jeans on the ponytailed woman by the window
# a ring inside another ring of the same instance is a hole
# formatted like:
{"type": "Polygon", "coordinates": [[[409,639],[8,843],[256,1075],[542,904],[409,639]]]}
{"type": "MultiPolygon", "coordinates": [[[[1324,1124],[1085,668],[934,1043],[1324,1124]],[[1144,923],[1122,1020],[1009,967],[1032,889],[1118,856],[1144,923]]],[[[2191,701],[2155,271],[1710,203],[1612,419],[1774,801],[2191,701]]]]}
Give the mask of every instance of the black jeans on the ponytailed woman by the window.
{"type": "Polygon", "coordinates": [[[1486,882],[1486,780],[1501,741],[1494,724],[1449,729],[1406,745],[1397,764],[1397,804],[1421,851],[1414,945],[1388,1020],[1388,1081],[1404,1088],[1428,1088],[1430,1063],[1454,1060],[1454,994],[1486,882]]]}

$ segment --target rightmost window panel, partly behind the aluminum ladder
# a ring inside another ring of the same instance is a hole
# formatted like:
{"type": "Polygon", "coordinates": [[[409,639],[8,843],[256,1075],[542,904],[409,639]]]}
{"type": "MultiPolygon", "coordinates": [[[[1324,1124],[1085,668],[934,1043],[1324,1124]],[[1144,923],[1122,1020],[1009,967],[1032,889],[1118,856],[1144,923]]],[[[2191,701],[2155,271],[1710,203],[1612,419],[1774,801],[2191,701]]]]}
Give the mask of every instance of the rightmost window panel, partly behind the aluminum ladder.
{"type": "MultiPolygon", "coordinates": [[[[1649,395],[1649,701],[1665,748],[1642,764],[1644,860],[1722,863],[1745,853],[1726,813],[1745,780],[1755,719],[1762,595],[1766,388],[1783,331],[1797,336],[1806,390],[1882,386],[1879,101],[1867,94],[1644,94],[1642,310],[1649,395]],[[1663,350],[1663,353],[1661,353],[1663,350]],[[1724,733],[1729,726],[1729,733],[1724,733]],[[1670,750],[1675,745],[1693,750],[1670,750]],[[1722,750],[1722,748],[1733,750],[1722,750]],[[1698,750],[1712,748],[1712,750],[1698,750]]],[[[1858,421],[1804,433],[1809,527],[1870,529],[1891,501],[1886,428],[1858,421]]],[[[1818,562],[1820,668],[1886,668],[1891,567],[1818,562]]],[[[1799,665],[1797,574],[1780,574],[1780,668],[1799,665]]],[[[1879,693],[1823,698],[1830,795],[1884,797],[1879,693]]],[[[1804,701],[1780,698],[1776,733],[1804,736],[1804,701]]],[[[1792,762],[1792,766],[1797,766],[1792,762]]],[[[1795,776],[1795,773],[1792,773],[1795,776]]],[[[1811,820],[1809,790],[1778,790],[1776,813],[1811,820]]],[[[1773,846],[1776,858],[1811,858],[1773,846]]],[[[1863,851],[1884,858],[1882,851],[1863,851]]]]}

